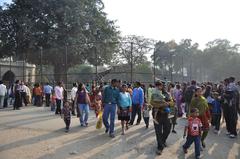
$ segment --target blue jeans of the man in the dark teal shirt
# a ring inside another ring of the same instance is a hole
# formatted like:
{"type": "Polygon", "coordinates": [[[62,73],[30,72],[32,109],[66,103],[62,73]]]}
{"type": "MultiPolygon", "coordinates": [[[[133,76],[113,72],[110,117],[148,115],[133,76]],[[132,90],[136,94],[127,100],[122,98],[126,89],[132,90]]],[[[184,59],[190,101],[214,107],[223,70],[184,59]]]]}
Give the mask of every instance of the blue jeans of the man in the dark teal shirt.
{"type": "Polygon", "coordinates": [[[103,110],[103,124],[106,127],[107,130],[110,131],[110,134],[114,133],[114,121],[115,121],[115,113],[116,113],[116,104],[104,104],[104,110],[103,110]],[[108,118],[110,115],[110,125],[108,122],[108,118]]]}

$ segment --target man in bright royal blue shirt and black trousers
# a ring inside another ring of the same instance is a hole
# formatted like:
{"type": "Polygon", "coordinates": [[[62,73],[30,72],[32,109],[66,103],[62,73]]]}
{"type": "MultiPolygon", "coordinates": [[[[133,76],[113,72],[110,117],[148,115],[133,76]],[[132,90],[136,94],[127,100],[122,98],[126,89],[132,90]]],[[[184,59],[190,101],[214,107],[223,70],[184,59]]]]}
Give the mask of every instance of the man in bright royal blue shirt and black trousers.
{"type": "Polygon", "coordinates": [[[141,88],[141,83],[136,82],[135,85],[136,87],[133,89],[132,93],[132,117],[130,125],[133,125],[136,114],[138,114],[137,125],[140,124],[142,119],[141,110],[144,104],[144,92],[143,89],[141,88]]]}

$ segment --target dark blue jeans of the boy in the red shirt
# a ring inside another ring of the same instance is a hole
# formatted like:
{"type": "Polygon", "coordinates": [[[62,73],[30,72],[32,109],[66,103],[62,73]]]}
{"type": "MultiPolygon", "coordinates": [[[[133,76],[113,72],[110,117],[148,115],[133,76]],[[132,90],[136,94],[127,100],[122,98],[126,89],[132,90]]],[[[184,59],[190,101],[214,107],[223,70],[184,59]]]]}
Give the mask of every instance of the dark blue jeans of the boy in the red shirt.
{"type": "Polygon", "coordinates": [[[188,149],[192,143],[194,142],[195,145],[195,156],[196,158],[200,156],[200,136],[187,136],[187,141],[183,145],[184,149],[188,149]]]}

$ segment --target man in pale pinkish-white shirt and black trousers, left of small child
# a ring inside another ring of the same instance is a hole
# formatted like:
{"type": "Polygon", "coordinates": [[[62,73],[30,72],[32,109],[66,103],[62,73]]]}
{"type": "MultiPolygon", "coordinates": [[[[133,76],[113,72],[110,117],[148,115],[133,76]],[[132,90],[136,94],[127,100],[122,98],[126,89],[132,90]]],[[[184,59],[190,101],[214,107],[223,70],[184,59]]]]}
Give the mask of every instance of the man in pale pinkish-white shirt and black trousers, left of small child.
{"type": "Polygon", "coordinates": [[[63,83],[58,82],[58,85],[54,88],[55,96],[56,96],[56,105],[57,109],[55,114],[61,114],[61,104],[63,100],[63,83]]]}

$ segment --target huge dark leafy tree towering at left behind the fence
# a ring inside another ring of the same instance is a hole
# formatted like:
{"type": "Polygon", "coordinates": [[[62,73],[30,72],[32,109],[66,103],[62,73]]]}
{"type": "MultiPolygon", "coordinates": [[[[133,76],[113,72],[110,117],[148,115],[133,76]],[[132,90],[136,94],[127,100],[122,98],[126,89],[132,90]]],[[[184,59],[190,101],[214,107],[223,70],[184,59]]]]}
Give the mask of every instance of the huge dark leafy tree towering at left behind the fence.
{"type": "Polygon", "coordinates": [[[19,59],[40,64],[42,47],[42,62],[54,66],[55,80],[62,79],[69,67],[86,60],[91,64],[109,63],[118,31],[103,8],[101,0],[14,0],[2,11],[7,14],[4,19],[9,27],[0,24],[0,28],[10,40],[0,37],[1,54],[11,52],[19,59]]]}

